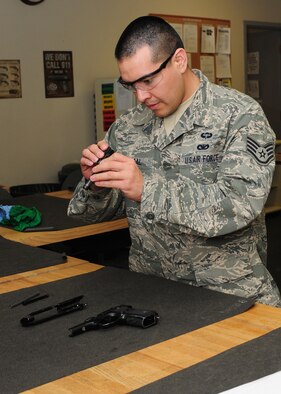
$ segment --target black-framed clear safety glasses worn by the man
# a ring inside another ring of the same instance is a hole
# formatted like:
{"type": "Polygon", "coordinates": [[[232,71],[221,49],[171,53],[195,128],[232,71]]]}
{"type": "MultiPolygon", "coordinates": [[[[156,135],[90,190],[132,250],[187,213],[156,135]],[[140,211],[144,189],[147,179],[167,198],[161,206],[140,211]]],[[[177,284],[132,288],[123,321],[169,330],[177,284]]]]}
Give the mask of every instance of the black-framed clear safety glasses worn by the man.
{"type": "Polygon", "coordinates": [[[155,86],[158,85],[158,83],[162,80],[162,74],[160,73],[160,71],[166,68],[167,64],[172,59],[175,52],[176,50],[162,64],[160,64],[157,70],[152,71],[151,73],[146,74],[132,82],[123,81],[123,79],[120,77],[118,79],[118,82],[125,89],[132,90],[134,92],[136,92],[137,90],[143,90],[146,92],[148,90],[155,88],[155,86]]]}

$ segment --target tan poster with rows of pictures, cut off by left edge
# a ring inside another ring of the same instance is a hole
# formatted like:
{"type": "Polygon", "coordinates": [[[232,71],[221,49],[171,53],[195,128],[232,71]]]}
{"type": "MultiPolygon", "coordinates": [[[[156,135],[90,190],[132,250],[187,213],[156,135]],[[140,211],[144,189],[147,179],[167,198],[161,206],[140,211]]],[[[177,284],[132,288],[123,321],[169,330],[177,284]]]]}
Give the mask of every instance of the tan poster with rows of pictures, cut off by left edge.
{"type": "Polygon", "coordinates": [[[19,60],[0,60],[0,98],[20,98],[21,72],[19,60]]]}

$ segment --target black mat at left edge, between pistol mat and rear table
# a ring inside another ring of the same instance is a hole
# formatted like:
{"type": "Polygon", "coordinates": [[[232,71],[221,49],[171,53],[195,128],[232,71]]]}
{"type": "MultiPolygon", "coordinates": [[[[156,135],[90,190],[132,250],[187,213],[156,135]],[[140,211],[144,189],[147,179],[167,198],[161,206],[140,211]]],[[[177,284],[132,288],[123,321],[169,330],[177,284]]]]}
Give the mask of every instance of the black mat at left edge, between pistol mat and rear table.
{"type": "Polygon", "coordinates": [[[64,253],[34,248],[0,237],[0,276],[18,274],[67,261],[64,253]]]}

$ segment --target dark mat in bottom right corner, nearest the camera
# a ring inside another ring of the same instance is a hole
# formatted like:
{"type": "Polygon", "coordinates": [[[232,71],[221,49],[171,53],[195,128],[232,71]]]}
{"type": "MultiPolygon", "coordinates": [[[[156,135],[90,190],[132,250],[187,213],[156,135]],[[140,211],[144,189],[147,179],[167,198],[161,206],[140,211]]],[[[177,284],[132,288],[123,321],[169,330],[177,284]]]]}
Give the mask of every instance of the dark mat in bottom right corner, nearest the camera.
{"type": "Polygon", "coordinates": [[[207,361],[135,390],[134,393],[217,394],[280,370],[281,329],[279,328],[207,361]]]}

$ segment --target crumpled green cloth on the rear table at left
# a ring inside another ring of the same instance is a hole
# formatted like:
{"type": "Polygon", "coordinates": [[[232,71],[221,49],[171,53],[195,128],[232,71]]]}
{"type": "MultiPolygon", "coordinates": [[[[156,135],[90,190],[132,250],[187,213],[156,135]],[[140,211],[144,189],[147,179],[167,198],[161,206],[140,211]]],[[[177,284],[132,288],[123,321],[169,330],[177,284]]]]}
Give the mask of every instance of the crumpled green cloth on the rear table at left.
{"type": "Polygon", "coordinates": [[[17,231],[38,226],[42,217],[37,208],[27,208],[22,205],[13,205],[9,216],[9,219],[4,219],[2,224],[12,226],[17,231]]]}

